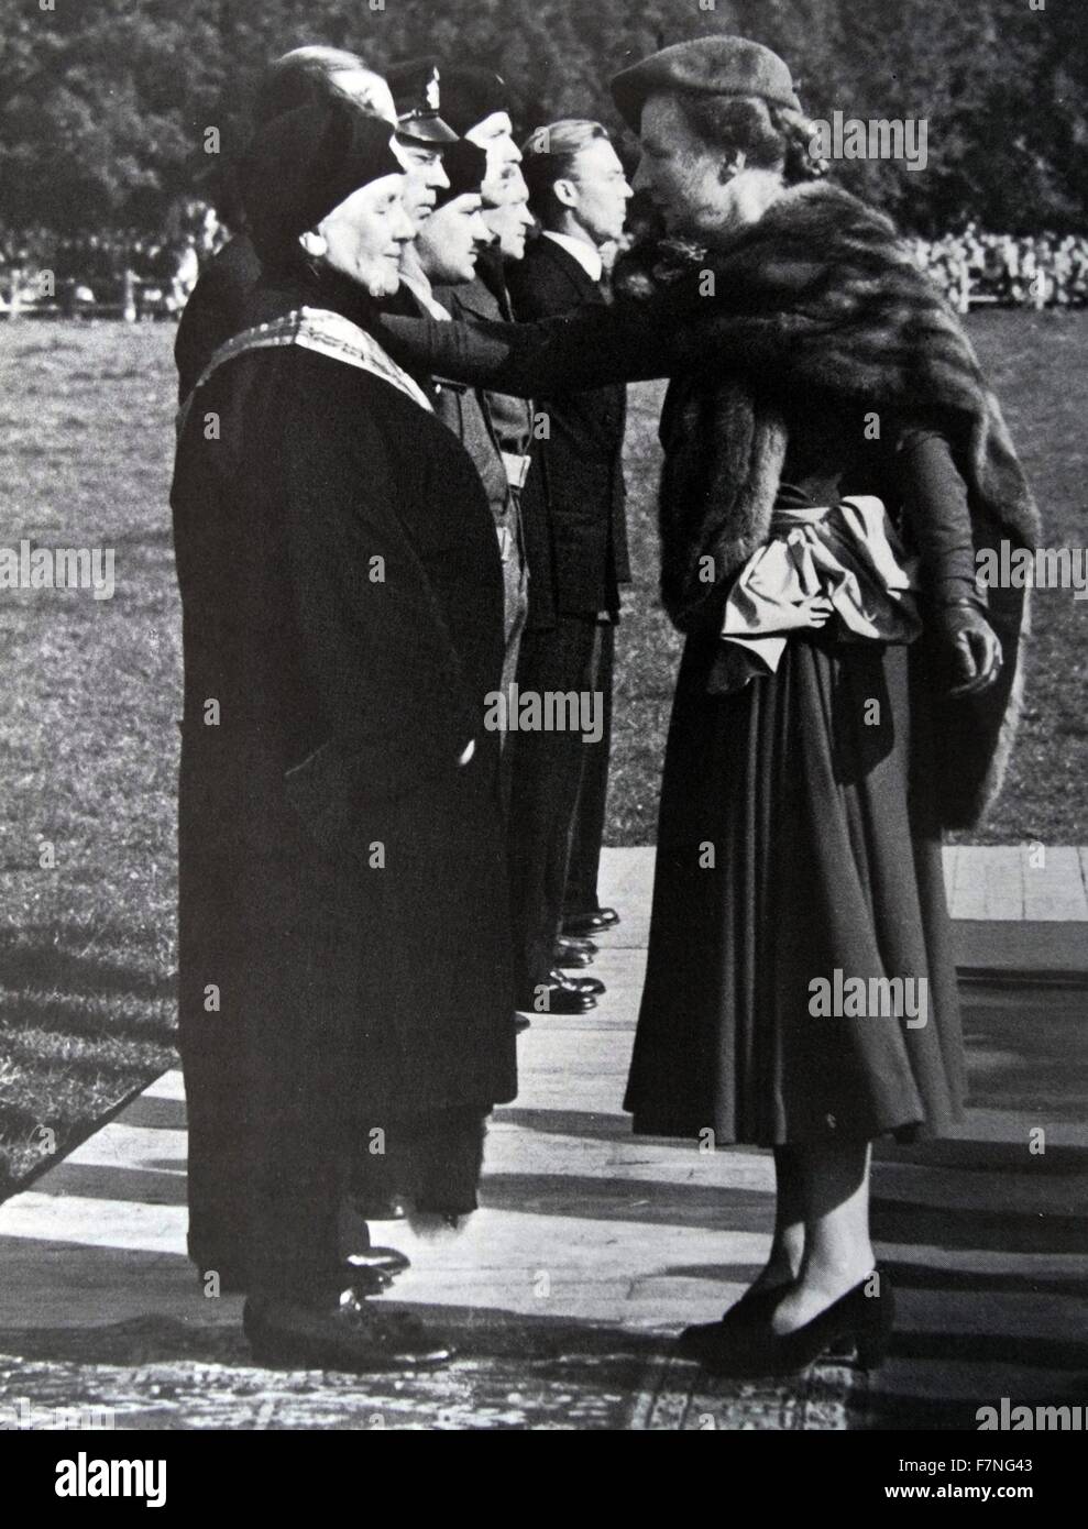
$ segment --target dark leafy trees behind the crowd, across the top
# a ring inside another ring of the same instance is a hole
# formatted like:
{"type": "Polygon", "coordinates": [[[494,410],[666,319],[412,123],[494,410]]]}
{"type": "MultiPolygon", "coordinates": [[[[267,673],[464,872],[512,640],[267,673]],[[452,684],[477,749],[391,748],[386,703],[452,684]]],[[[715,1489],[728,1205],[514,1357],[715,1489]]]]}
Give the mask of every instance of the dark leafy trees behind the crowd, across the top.
{"type": "Polygon", "coordinates": [[[776,47],[816,116],[926,118],[924,171],[839,167],[906,226],[1088,226],[1083,0],[0,0],[0,222],[151,226],[179,194],[222,199],[254,81],[298,43],[489,63],[526,128],[616,127],[608,76],[706,32],[776,47]]]}

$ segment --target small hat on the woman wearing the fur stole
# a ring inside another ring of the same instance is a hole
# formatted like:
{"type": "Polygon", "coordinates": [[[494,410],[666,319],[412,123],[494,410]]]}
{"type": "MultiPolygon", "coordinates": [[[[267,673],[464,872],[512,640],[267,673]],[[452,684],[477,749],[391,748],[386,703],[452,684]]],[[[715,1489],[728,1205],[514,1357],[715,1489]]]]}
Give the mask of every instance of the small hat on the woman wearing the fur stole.
{"type": "Polygon", "coordinates": [[[787,64],[746,37],[697,37],[651,54],[611,83],[623,121],[639,131],[642,109],[657,92],[706,96],[763,96],[773,106],[801,110],[787,64]]]}

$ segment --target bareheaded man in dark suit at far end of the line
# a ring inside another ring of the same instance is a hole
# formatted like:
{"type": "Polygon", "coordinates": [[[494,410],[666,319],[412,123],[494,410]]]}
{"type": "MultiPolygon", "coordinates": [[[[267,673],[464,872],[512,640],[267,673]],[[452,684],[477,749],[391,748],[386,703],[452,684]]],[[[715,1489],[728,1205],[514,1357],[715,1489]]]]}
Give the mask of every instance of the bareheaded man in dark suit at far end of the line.
{"type": "MultiPolygon", "coordinates": [[[[507,281],[515,318],[529,321],[604,303],[601,251],[620,239],[631,188],[597,122],[538,128],[523,148],[530,209],[542,235],[507,281]]],[[[597,742],[581,732],[523,734],[512,761],[512,881],[521,1001],[581,1012],[556,989],[556,968],[593,948],[570,936],[614,924],[597,902],[608,783],[613,627],[627,555],[623,387],[538,402],[547,433],[535,442],[524,503],[529,622],[518,687],[601,697],[597,742]],[[565,934],[564,934],[565,931],[565,934]],[[541,989],[544,1001],[541,1001],[541,989]]],[[[541,434],[541,433],[538,433],[541,434]]]]}

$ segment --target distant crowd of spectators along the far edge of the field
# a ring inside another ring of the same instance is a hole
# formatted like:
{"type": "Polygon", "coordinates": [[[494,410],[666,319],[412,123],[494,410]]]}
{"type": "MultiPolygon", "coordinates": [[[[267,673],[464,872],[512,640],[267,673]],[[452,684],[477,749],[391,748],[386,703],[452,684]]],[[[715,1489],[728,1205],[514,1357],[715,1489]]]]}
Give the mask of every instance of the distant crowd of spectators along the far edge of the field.
{"type": "MultiPolygon", "coordinates": [[[[118,229],[55,235],[0,225],[0,313],[118,310],[127,318],[177,317],[208,260],[229,231],[205,202],[176,208],[154,234],[118,229]],[[41,274],[52,272],[43,284],[41,274]]],[[[912,239],[918,265],[960,310],[1082,307],[1088,304],[1088,237],[989,234],[969,223],[960,234],[912,239]]]]}

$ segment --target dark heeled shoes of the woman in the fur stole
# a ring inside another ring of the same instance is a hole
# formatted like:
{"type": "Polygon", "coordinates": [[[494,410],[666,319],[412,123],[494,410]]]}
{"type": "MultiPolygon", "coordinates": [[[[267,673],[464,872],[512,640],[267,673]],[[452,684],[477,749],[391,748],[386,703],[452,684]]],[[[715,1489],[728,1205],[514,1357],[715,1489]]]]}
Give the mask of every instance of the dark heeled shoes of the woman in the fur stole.
{"type": "Polygon", "coordinates": [[[744,1341],[723,1346],[721,1352],[701,1358],[712,1375],[770,1376],[798,1375],[825,1355],[840,1356],[853,1347],[865,1370],[876,1370],[888,1352],[895,1324],[895,1297],[891,1278],[880,1274],[880,1294],[866,1295],[873,1275],[866,1275],[851,1290],[833,1301],[819,1316],[813,1316],[796,1332],[778,1335],[770,1315],[755,1324],[744,1341]]]}

